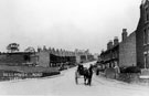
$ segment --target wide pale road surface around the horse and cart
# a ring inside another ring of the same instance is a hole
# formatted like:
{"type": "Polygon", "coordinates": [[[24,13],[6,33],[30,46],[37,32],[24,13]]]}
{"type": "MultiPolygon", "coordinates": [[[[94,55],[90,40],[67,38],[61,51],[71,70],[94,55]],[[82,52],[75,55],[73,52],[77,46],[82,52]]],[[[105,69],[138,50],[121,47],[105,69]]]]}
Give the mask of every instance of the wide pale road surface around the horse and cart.
{"type": "MultiPolygon", "coordinates": [[[[87,66],[89,63],[86,64],[87,66]]],[[[130,85],[94,75],[92,86],[85,86],[83,78],[75,84],[76,67],[63,71],[61,75],[45,78],[0,83],[0,95],[50,95],[50,96],[149,96],[149,87],[130,85]]]]}

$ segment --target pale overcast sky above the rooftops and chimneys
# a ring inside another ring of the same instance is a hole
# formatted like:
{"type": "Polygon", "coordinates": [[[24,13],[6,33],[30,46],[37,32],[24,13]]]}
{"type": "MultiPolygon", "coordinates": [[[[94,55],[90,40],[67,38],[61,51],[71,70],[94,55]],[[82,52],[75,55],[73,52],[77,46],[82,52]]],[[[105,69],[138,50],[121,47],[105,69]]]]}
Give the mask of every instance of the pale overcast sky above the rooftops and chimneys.
{"type": "Polygon", "coordinates": [[[136,30],[141,0],[0,0],[0,51],[10,43],[100,53],[136,30]]]}

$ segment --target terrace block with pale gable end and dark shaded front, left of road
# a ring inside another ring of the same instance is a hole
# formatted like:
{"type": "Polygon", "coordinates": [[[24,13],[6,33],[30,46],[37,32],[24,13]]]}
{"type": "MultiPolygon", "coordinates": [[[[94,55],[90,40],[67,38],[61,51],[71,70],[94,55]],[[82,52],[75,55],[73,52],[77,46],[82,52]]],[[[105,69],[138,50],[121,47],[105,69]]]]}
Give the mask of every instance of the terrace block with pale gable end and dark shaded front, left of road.
{"type": "Polygon", "coordinates": [[[39,49],[36,52],[38,65],[44,67],[61,66],[61,64],[75,64],[75,53],[65,50],[39,49]]]}

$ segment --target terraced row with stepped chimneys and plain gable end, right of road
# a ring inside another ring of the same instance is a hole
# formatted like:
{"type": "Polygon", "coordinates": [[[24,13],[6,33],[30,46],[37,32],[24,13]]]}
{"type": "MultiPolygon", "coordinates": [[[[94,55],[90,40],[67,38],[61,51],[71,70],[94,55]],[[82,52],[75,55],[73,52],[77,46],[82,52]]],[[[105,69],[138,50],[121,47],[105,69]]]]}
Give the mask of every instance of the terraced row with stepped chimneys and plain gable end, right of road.
{"type": "Polygon", "coordinates": [[[127,36],[127,29],[123,29],[121,42],[118,39],[114,39],[108,42],[107,50],[100,54],[100,63],[107,67],[114,67],[114,65],[123,66],[135,66],[136,65],[136,33],[132,32],[127,36]]]}

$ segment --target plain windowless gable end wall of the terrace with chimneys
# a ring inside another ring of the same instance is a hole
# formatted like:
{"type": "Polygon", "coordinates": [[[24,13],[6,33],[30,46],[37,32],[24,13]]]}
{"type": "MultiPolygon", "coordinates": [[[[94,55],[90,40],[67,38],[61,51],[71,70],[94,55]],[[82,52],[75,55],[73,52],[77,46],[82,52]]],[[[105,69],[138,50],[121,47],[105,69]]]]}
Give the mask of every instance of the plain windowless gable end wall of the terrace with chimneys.
{"type": "Polygon", "coordinates": [[[132,66],[137,64],[136,62],[136,33],[132,32],[119,43],[119,66],[132,66]]]}

